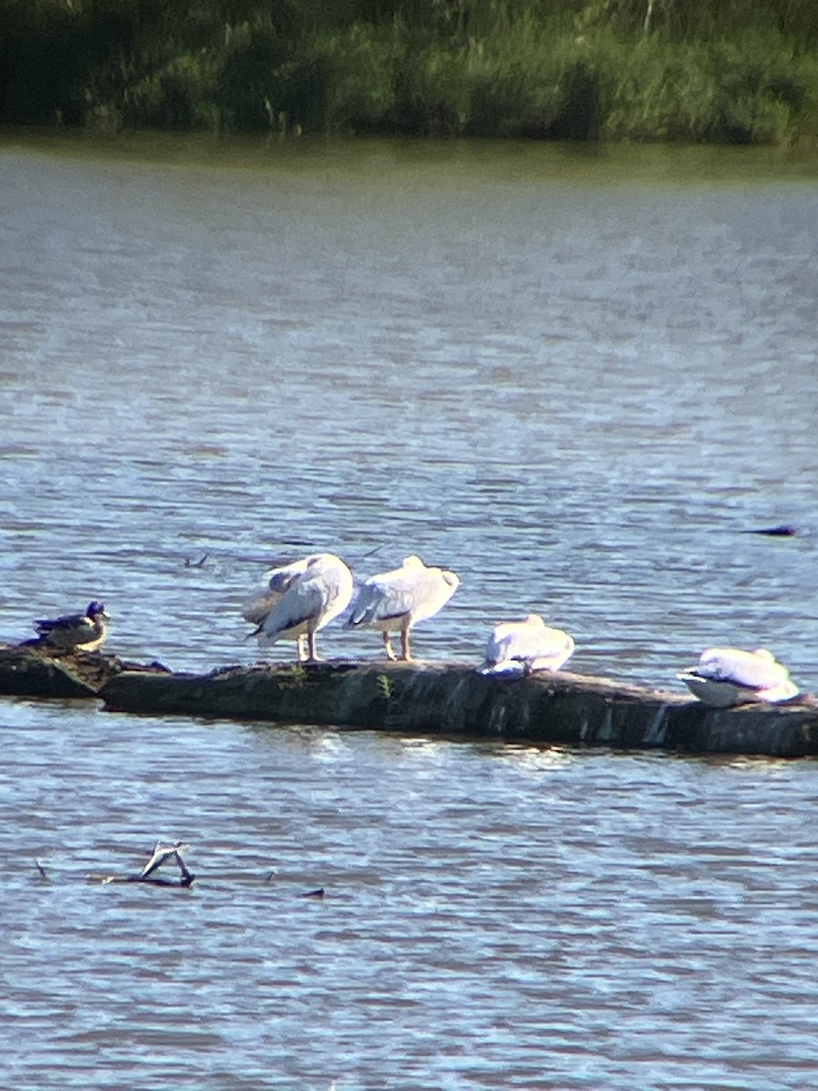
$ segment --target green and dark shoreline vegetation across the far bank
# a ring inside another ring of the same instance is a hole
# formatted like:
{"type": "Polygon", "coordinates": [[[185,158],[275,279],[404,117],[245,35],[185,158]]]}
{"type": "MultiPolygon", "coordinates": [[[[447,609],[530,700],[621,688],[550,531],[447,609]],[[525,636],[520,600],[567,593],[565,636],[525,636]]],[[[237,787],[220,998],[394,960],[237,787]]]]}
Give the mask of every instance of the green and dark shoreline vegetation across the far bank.
{"type": "Polygon", "coordinates": [[[0,124],[818,136],[815,0],[2,0],[0,124]]]}

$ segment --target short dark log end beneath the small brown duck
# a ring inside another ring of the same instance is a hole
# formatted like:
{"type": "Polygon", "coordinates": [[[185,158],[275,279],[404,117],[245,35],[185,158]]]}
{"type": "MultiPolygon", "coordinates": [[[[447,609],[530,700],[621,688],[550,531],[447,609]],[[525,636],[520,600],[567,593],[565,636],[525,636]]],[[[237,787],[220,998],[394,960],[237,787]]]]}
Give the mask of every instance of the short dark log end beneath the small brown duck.
{"type": "Polygon", "coordinates": [[[0,645],[0,694],[7,697],[95,697],[125,670],[169,673],[160,663],[132,663],[101,651],[59,656],[36,640],[0,645]]]}

